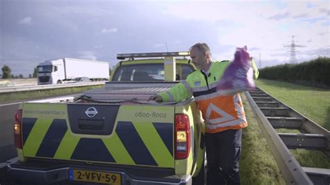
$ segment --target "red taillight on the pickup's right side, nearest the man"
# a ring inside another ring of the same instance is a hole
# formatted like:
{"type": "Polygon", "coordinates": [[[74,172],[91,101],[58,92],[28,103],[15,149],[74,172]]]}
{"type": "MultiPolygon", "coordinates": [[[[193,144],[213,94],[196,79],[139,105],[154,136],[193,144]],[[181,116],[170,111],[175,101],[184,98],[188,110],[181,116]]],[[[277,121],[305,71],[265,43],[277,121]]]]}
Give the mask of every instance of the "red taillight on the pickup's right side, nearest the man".
{"type": "Polygon", "coordinates": [[[186,159],[191,145],[190,123],[186,114],[175,114],[175,159],[186,159]]]}

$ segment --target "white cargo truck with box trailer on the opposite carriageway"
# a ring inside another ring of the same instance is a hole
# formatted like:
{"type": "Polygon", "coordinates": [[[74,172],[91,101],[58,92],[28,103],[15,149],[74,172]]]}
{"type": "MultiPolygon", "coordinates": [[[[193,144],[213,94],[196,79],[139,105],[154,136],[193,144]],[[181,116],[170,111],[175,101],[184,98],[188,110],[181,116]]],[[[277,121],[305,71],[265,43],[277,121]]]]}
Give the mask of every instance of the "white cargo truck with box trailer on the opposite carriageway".
{"type": "Polygon", "coordinates": [[[109,63],[77,58],[61,58],[39,63],[38,85],[70,83],[79,77],[91,81],[109,80],[109,63]]]}

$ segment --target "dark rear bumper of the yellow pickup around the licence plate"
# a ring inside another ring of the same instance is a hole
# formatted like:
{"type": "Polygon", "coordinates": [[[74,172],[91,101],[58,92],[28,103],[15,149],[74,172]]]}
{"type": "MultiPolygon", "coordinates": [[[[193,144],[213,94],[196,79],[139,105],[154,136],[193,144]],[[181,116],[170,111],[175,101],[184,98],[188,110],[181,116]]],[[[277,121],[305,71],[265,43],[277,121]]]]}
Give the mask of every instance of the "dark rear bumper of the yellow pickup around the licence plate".
{"type": "Polygon", "coordinates": [[[121,175],[121,184],[191,184],[191,175],[173,175],[173,169],[157,169],[131,166],[105,166],[79,163],[29,161],[8,165],[10,176],[19,182],[31,184],[70,183],[69,170],[97,170],[117,172],[121,175]],[[40,163],[42,162],[42,163],[40,163]]]}

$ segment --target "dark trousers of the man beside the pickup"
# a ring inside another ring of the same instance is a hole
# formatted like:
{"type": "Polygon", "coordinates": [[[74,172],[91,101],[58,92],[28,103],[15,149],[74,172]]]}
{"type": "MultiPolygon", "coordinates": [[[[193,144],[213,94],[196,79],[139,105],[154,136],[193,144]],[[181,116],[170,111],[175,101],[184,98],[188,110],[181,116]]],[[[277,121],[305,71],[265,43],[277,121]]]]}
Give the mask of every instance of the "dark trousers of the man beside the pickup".
{"type": "Polygon", "coordinates": [[[239,184],[242,129],[205,134],[206,184],[239,184]]]}

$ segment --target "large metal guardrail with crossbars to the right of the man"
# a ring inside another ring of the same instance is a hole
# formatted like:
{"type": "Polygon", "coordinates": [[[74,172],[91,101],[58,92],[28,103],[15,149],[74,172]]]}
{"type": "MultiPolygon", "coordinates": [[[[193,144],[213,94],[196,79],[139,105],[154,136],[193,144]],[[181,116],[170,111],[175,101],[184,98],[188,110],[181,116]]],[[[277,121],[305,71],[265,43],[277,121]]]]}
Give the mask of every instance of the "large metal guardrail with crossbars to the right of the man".
{"type": "Polygon", "coordinates": [[[261,89],[245,95],[286,184],[330,184],[330,169],[301,167],[289,150],[320,150],[329,157],[330,132],[261,89]],[[277,133],[278,128],[298,129],[301,134],[277,133]]]}

